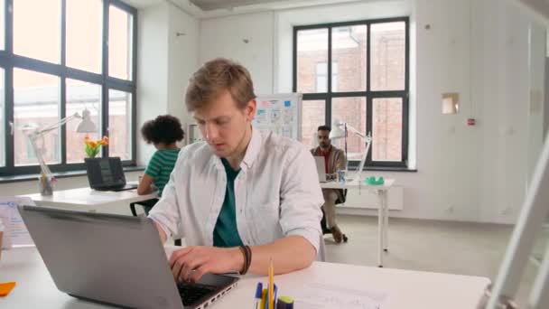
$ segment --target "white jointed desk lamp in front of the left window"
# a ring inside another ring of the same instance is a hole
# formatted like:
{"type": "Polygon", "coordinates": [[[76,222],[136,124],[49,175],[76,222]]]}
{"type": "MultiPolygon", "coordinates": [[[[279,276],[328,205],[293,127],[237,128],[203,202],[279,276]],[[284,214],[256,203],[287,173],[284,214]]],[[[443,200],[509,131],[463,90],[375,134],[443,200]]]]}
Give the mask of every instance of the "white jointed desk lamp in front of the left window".
{"type": "Polygon", "coordinates": [[[45,126],[43,128],[37,127],[33,124],[27,124],[21,128],[22,131],[25,133],[25,135],[29,138],[31,145],[33,146],[33,151],[34,151],[34,154],[36,155],[38,164],[40,164],[41,174],[39,177],[39,181],[40,181],[40,193],[42,195],[53,194],[52,182],[55,181],[55,177],[53,177],[53,174],[51,173],[50,168],[44,161],[44,158],[42,156],[42,148],[40,148],[36,144],[36,140],[44,136],[48,132],[56,130],[61,126],[67,124],[71,120],[74,120],[77,118],[82,120],[80,121],[76,132],[93,133],[98,131],[96,125],[91,121],[91,117],[89,115],[88,109],[84,109],[84,111],[82,112],[82,116],[80,116],[79,113],[74,113],[69,117],[64,117],[60,119],[60,121],[58,121],[57,123],[54,123],[50,126],[45,126]]]}

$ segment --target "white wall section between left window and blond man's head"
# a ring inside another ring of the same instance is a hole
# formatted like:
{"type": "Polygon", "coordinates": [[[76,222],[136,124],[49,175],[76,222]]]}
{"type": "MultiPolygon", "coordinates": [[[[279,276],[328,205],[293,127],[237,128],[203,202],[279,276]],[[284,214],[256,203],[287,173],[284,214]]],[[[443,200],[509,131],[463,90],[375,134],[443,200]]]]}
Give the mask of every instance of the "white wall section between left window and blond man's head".
{"type": "MultiPolygon", "coordinates": [[[[187,79],[198,65],[198,20],[163,2],[139,13],[137,128],[158,115],[171,114],[188,121],[183,104],[187,79]],[[176,33],[185,33],[177,36],[176,33]]],[[[152,145],[137,138],[137,164],[147,164],[152,145]]]]}

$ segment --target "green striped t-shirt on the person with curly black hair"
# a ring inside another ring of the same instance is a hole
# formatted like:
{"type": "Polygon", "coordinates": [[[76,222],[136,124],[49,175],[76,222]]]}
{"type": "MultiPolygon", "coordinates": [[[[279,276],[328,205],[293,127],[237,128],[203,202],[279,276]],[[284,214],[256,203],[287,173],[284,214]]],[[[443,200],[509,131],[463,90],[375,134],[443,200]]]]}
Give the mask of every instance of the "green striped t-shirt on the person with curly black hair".
{"type": "Polygon", "coordinates": [[[177,161],[181,149],[159,149],[157,150],[144,173],[154,178],[154,185],[158,188],[158,195],[162,195],[166,183],[170,180],[170,174],[177,161]]]}

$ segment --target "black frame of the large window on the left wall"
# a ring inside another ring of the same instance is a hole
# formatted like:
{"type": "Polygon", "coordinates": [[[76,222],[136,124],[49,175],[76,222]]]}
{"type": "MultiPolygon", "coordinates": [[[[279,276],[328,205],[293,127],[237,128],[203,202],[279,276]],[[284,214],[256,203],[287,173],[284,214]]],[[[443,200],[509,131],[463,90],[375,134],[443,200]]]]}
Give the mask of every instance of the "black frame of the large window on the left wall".
{"type": "MultiPolygon", "coordinates": [[[[102,1],[102,33],[101,33],[101,72],[89,72],[70,68],[66,65],[66,3],[74,0],[58,0],[60,2],[60,63],[51,63],[40,61],[21,55],[14,54],[14,0],[5,0],[5,49],[0,51],[0,69],[5,70],[5,166],[0,166],[0,177],[14,176],[23,174],[40,173],[40,166],[25,165],[15,166],[14,164],[14,135],[11,134],[12,124],[14,123],[14,69],[32,70],[39,73],[46,73],[56,76],[60,79],[60,118],[67,117],[65,108],[66,101],[66,80],[81,80],[96,84],[101,87],[101,119],[102,125],[98,127],[100,136],[108,136],[108,91],[109,89],[125,91],[132,95],[132,107],[130,126],[130,159],[123,160],[124,166],[135,166],[136,154],[136,102],[137,102],[137,10],[135,7],[126,5],[120,0],[101,0],[102,1]],[[114,5],[132,16],[132,50],[131,50],[131,80],[120,80],[108,75],[108,23],[109,7],[114,5]]],[[[29,25],[36,26],[36,25],[29,25]]],[[[48,164],[52,173],[79,171],[86,168],[83,163],[67,164],[67,145],[66,145],[66,126],[60,126],[60,164],[48,164]]],[[[83,146],[83,145],[82,145],[83,146]]],[[[102,147],[103,156],[108,156],[108,147],[102,147]]],[[[82,158],[83,159],[83,158],[82,158]]]]}

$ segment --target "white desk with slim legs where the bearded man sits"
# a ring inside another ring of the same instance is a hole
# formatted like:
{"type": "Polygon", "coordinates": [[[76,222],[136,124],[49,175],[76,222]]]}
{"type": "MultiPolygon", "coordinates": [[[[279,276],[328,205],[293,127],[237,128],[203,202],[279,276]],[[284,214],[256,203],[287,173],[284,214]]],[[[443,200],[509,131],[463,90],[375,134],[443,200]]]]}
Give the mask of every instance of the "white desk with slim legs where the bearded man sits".
{"type": "Polygon", "coordinates": [[[358,179],[346,183],[327,182],[321,183],[322,189],[360,189],[375,191],[379,198],[379,207],[377,208],[377,266],[383,267],[383,251],[389,249],[388,226],[389,226],[389,208],[387,206],[387,191],[395,183],[394,179],[386,179],[383,185],[370,185],[361,183],[358,179]]]}

